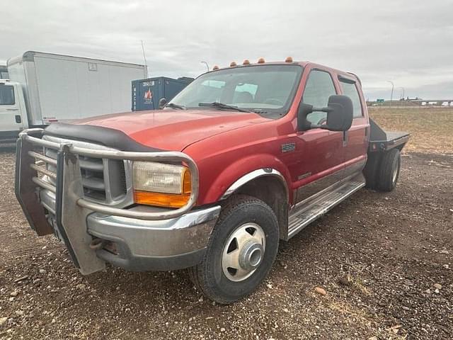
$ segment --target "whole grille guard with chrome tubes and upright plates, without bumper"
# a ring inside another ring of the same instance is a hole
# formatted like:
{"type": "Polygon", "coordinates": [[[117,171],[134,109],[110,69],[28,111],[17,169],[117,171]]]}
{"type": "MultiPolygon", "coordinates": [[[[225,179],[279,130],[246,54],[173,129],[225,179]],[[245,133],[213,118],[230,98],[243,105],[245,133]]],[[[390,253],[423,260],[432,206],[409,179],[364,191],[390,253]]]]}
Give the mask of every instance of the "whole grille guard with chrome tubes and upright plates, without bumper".
{"type": "Polygon", "coordinates": [[[183,152],[123,152],[76,147],[71,142],[42,140],[43,129],[33,128],[20,133],[16,149],[16,198],[30,227],[38,235],[51,234],[57,229],[66,244],[74,264],[81,273],[102,270],[105,263],[90,249],[91,236],[86,232],[86,217],[92,212],[105,215],[136,218],[139,220],[166,220],[188,212],[197,201],[199,175],[197,165],[183,152]],[[36,152],[36,147],[57,150],[57,159],[36,152]],[[84,198],[84,189],[79,165],[79,155],[101,159],[120,159],[144,162],[179,162],[190,169],[192,179],[188,203],[178,209],[146,212],[127,208],[113,208],[94,203],[84,198]],[[56,166],[54,173],[45,164],[56,166]],[[56,186],[40,176],[49,176],[56,186]],[[44,205],[40,203],[37,191],[47,190],[55,194],[55,224],[47,220],[44,205]]]}

